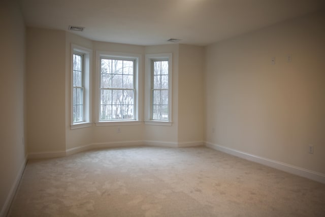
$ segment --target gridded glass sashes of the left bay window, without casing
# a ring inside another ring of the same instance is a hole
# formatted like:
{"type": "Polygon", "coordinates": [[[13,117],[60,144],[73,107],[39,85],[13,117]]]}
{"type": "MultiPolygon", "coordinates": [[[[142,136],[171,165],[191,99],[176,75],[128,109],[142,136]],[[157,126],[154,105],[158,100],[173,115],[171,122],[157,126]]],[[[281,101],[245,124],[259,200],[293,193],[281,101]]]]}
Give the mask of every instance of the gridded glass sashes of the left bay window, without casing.
{"type": "Polygon", "coordinates": [[[73,123],[84,121],[84,55],[73,54],[73,123]]]}

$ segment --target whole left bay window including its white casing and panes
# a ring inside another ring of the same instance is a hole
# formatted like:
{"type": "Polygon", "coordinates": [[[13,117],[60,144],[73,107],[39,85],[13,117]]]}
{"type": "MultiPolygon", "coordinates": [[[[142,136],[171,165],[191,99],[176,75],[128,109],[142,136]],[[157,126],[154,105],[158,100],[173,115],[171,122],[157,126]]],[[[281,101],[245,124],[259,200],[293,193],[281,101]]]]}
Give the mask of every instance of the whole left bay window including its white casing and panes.
{"type": "Polygon", "coordinates": [[[90,123],[90,60],[91,50],[72,45],[71,129],[91,126],[90,123]]]}

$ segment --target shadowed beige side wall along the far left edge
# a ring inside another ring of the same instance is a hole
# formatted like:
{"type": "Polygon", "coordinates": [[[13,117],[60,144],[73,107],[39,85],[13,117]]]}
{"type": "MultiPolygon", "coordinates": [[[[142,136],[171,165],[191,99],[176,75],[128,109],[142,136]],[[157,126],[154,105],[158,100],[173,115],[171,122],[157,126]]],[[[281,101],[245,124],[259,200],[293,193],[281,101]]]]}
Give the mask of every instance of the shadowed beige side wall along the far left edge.
{"type": "Polygon", "coordinates": [[[14,1],[1,1],[0,216],[9,208],[25,164],[25,25],[14,1]]]}

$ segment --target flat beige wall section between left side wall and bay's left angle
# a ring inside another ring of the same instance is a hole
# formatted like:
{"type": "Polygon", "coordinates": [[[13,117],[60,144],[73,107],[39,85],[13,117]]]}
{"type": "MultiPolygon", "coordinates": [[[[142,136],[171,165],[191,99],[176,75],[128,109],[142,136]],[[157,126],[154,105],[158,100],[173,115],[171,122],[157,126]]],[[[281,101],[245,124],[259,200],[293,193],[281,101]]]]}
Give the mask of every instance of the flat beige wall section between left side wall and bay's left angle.
{"type": "Polygon", "coordinates": [[[28,152],[66,150],[66,34],[27,28],[28,152]]]}

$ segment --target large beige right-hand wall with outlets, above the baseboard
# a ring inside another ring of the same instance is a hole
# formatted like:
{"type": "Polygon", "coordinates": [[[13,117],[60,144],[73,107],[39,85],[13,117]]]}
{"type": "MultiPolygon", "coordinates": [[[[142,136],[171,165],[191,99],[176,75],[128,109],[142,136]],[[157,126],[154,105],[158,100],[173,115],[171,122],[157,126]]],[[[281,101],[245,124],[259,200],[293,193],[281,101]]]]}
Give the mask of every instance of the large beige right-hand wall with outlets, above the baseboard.
{"type": "Polygon", "coordinates": [[[208,46],[206,140],[324,174],[324,26],[308,15],[208,46]]]}

